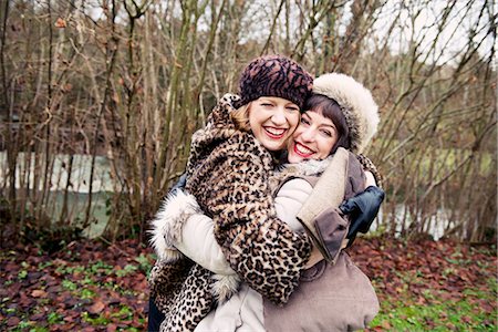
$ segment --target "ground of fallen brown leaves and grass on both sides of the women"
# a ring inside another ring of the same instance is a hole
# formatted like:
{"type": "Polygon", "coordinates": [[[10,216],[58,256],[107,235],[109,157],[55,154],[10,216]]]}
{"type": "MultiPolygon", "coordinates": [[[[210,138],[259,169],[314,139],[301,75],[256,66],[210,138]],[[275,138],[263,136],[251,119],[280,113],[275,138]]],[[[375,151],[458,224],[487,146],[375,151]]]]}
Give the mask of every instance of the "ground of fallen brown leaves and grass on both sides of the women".
{"type": "MultiPolygon", "coordinates": [[[[496,331],[495,246],[357,239],[381,312],[370,331],[496,331]]],[[[143,331],[154,256],[136,240],[0,251],[0,331],[143,331]]]]}

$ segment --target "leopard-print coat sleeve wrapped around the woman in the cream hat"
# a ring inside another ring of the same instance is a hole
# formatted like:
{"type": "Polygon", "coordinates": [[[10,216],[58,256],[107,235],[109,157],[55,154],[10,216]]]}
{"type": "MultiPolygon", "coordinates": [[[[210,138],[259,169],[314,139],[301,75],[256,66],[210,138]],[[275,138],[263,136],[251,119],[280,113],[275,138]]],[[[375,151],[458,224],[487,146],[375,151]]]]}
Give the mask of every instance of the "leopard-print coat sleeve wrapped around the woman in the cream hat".
{"type": "Polygon", "coordinates": [[[236,148],[224,159],[216,181],[224,193],[212,208],[215,237],[230,266],[253,290],[283,304],[299,283],[311,242],[277,218],[269,169],[261,159],[236,148]],[[229,169],[229,175],[227,174],[229,169]]]}

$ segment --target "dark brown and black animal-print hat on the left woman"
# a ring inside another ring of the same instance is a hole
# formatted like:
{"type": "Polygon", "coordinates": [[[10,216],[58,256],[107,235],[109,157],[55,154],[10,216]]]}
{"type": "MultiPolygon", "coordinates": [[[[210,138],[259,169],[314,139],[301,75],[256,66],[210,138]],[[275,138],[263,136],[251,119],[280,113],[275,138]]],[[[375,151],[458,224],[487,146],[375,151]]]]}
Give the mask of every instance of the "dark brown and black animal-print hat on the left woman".
{"type": "Polygon", "coordinates": [[[261,96],[277,96],[302,110],[312,86],[313,77],[295,61],[282,55],[260,56],[242,71],[239,81],[241,100],[236,107],[261,96]]]}

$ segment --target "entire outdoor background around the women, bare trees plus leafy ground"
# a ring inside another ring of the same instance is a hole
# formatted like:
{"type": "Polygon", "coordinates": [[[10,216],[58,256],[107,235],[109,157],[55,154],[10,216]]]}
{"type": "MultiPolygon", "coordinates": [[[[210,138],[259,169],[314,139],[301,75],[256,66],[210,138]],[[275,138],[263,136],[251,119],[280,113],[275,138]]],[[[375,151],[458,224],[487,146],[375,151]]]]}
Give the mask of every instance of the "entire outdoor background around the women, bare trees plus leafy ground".
{"type": "Polygon", "coordinates": [[[0,0],[0,331],[145,329],[147,222],[267,53],[380,105],[367,330],[497,331],[496,34],[486,0],[0,0]]]}

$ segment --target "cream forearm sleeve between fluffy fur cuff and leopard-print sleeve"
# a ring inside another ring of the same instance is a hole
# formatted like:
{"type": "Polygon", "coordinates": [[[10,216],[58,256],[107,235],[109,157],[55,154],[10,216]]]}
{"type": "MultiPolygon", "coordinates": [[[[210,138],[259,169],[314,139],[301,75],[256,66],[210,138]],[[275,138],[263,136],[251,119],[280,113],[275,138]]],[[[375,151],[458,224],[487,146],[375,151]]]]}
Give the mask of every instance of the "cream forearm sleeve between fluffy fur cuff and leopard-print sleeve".
{"type": "Polygon", "coordinates": [[[185,256],[217,274],[235,274],[215,239],[212,219],[193,215],[184,224],[181,238],[174,245],[185,256]]]}

